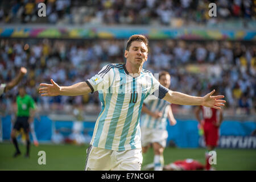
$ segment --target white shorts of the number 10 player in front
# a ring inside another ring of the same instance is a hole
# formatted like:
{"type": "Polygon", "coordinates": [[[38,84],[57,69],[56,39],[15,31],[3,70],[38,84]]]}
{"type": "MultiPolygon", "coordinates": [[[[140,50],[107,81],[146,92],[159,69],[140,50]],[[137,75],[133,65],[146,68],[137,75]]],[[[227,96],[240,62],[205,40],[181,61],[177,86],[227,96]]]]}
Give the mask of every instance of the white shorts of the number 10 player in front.
{"type": "Polygon", "coordinates": [[[141,171],[141,149],[115,151],[90,145],[86,153],[85,171],[141,171]]]}

